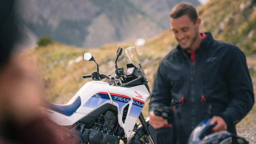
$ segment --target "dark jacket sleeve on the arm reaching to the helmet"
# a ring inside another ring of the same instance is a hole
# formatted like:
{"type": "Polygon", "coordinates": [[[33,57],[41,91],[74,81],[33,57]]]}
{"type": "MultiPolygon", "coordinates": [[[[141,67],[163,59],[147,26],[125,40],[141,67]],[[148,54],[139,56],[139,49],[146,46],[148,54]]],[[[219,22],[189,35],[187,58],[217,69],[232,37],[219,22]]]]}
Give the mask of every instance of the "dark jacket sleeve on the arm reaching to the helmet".
{"type": "Polygon", "coordinates": [[[243,119],[254,105],[253,86],[245,55],[237,47],[230,50],[225,76],[231,102],[219,115],[226,121],[228,128],[243,119]]]}

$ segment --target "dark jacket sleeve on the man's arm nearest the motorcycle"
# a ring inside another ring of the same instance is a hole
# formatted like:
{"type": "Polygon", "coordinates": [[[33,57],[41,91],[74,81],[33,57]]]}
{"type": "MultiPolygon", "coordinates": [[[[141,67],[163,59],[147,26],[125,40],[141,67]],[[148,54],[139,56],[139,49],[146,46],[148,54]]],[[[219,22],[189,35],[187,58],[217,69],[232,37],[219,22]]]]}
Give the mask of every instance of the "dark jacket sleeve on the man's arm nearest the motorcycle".
{"type": "Polygon", "coordinates": [[[168,69],[164,63],[164,60],[162,60],[155,75],[149,103],[149,112],[154,110],[155,107],[168,106],[171,103],[171,84],[168,80],[168,69]]]}

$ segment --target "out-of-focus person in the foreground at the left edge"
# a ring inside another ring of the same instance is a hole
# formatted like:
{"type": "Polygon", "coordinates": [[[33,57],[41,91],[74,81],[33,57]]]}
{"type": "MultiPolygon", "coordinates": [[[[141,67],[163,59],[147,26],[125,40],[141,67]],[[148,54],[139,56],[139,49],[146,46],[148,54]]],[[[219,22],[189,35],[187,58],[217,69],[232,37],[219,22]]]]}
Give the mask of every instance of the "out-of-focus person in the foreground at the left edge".
{"type": "Polygon", "coordinates": [[[57,126],[39,111],[42,82],[16,53],[22,33],[15,0],[0,2],[0,21],[0,143],[58,144],[57,126]]]}

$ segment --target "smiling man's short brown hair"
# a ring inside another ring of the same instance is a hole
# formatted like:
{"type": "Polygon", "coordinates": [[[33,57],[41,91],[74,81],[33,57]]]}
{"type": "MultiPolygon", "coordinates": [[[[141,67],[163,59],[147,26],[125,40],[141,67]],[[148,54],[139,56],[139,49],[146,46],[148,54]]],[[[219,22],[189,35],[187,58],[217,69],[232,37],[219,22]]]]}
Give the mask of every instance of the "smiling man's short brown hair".
{"type": "Polygon", "coordinates": [[[194,7],[194,5],[192,5],[189,2],[181,2],[178,5],[176,5],[172,10],[171,10],[171,14],[170,17],[171,18],[179,18],[183,15],[187,14],[188,17],[190,18],[190,20],[194,23],[196,23],[197,21],[197,10],[194,7]]]}

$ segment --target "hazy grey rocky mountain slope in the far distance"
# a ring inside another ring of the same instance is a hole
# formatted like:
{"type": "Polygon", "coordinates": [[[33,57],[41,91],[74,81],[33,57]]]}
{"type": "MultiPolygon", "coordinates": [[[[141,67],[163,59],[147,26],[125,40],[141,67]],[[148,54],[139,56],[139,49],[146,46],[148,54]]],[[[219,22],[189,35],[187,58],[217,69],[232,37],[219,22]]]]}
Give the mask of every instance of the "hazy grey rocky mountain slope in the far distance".
{"type": "MultiPolygon", "coordinates": [[[[37,37],[78,47],[149,38],[169,27],[184,0],[22,0],[22,17],[37,37]]],[[[198,0],[186,0],[199,5],[198,0]]]]}

